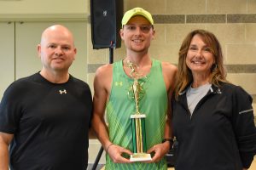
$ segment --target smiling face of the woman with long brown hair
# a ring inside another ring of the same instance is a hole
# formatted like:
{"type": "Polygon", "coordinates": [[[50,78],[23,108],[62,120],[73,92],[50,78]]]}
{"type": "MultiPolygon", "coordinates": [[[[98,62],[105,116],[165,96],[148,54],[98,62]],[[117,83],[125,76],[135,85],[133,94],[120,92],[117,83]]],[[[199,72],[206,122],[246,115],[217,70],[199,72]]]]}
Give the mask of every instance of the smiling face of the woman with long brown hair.
{"type": "Polygon", "coordinates": [[[210,47],[207,46],[199,34],[195,34],[189,45],[186,65],[193,75],[202,74],[209,77],[214,63],[215,60],[210,47]]]}

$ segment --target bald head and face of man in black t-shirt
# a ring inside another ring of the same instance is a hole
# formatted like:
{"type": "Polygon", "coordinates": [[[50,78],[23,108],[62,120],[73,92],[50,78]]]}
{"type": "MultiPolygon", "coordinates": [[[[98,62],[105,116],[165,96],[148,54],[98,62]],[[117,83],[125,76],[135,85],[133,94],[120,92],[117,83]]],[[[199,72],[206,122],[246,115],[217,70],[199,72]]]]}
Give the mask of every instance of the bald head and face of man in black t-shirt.
{"type": "Polygon", "coordinates": [[[38,55],[43,64],[43,71],[67,73],[75,59],[76,48],[73,36],[63,26],[52,26],[44,31],[38,45],[38,55]]]}

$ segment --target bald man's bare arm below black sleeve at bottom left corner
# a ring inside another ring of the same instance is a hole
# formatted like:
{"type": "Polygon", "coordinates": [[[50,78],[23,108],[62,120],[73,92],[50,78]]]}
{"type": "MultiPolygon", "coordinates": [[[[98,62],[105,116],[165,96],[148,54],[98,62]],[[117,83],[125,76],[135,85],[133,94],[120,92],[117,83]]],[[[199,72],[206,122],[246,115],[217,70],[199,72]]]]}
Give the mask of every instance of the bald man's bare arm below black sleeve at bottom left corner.
{"type": "Polygon", "coordinates": [[[13,134],[0,132],[0,170],[9,170],[9,144],[13,134]]]}

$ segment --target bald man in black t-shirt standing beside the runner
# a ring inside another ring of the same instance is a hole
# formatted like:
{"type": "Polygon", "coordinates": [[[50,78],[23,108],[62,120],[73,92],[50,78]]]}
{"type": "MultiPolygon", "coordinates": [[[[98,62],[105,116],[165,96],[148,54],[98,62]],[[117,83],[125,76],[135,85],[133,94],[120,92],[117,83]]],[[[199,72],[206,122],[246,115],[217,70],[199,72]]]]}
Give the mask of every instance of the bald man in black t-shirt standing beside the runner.
{"type": "Polygon", "coordinates": [[[0,170],[87,168],[92,99],[68,73],[76,53],[66,27],[42,33],[42,70],[13,82],[0,103],[0,170]]]}

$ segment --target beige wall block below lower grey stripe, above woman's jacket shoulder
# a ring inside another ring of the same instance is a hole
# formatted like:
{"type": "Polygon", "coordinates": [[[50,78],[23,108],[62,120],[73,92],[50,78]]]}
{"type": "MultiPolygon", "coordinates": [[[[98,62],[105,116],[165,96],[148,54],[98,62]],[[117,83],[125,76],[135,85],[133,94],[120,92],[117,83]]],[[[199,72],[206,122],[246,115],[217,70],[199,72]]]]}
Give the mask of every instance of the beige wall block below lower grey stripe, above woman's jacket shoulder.
{"type": "Polygon", "coordinates": [[[256,73],[229,73],[227,79],[244,88],[248,94],[256,94],[256,73]]]}

